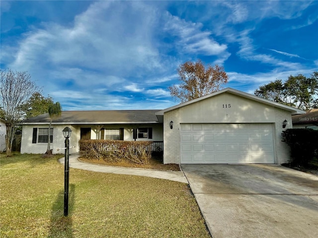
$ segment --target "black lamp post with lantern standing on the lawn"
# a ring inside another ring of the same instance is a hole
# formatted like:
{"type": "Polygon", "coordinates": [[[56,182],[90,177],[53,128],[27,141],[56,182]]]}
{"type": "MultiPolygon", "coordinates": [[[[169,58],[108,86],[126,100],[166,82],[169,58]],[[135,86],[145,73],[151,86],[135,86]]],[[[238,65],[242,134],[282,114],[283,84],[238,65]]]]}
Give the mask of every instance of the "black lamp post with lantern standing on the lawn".
{"type": "Polygon", "coordinates": [[[69,214],[69,156],[70,156],[70,136],[72,130],[69,127],[63,129],[65,137],[65,170],[64,170],[64,216],[69,214]]]}

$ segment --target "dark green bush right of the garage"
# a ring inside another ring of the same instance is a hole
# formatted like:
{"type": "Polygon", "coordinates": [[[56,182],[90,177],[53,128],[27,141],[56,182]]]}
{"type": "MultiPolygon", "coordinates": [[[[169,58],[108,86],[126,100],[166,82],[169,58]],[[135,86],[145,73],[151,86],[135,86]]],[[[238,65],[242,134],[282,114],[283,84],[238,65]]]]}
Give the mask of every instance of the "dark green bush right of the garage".
{"type": "Polygon", "coordinates": [[[282,135],[291,148],[291,166],[307,166],[318,156],[318,130],[287,129],[282,135]]]}

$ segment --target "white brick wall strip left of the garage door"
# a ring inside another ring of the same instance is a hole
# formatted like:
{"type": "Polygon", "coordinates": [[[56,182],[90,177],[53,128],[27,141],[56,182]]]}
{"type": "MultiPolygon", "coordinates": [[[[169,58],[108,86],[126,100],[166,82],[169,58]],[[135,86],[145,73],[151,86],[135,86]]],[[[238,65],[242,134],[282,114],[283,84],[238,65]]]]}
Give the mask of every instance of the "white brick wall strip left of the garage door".
{"type": "Polygon", "coordinates": [[[163,164],[180,164],[180,113],[179,109],[169,111],[163,117],[163,164]],[[173,128],[170,129],[170,121],[173,128]]]}

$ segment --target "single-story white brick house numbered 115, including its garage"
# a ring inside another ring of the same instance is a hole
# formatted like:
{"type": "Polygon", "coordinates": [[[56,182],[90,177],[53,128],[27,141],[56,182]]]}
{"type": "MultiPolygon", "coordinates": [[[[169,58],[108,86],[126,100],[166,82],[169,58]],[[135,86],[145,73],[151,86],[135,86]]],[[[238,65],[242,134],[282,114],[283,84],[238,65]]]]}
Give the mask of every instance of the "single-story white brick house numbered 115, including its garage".
{"type": "MultiPolygon", "coordinates": [[[[65,111],[52,122],[51,146],[53,153],[64,147],[69,126],[70,153],[79,139],[163,140],[164,164],[282,164],[289,161],[282,130],[304,113],[226,88],[164,110],[65,111]]],[[[46,151],[48,125],[47,114],[26,120],[21,153],[46,151]]]]}

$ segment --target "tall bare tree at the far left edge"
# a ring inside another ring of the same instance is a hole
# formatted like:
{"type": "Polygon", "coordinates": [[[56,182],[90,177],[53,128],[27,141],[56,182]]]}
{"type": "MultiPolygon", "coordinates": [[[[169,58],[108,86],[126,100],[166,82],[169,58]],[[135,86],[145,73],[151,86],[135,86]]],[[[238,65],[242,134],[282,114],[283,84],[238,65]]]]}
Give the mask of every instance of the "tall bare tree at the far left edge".
{"type": "Polygon", "coordinates": [[[15,131],[23,122],[24,105],[38,90],[27,72],[13,72],[11,69],[0,71],[0,105],[6,125],[6,156],[11,156],[15,131]]]}

